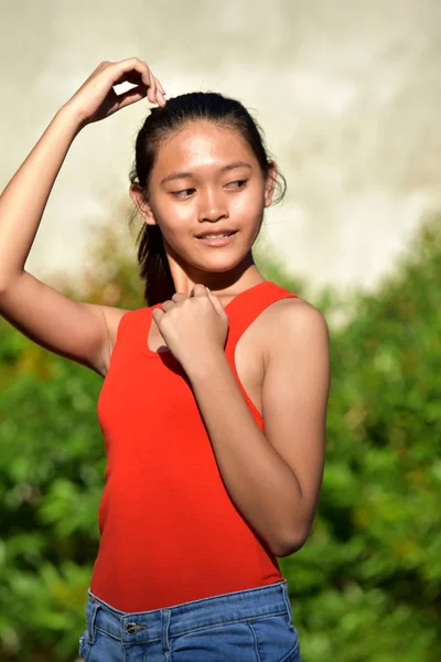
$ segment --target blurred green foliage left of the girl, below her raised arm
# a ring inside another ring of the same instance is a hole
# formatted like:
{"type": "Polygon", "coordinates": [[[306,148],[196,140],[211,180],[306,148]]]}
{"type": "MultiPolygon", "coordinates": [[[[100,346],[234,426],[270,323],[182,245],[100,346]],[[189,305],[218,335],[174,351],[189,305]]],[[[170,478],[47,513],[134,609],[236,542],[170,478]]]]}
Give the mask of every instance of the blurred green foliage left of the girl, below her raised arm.
{"type": "MultiPolygon", "coordinates": [[[[1,339],[11,333],[2,323],[1,339]]],[[[68,660],[98,542],[100,378],[26,339],[15,352],[0,399],[0,658],[68,660]]]]}

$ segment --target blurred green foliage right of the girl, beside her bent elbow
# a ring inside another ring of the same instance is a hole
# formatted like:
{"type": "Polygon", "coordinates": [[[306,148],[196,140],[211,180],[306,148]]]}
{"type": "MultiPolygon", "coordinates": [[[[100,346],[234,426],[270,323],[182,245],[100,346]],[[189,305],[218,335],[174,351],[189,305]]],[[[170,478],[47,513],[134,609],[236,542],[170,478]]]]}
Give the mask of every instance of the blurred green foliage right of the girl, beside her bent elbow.
{"type": "Polygon", "coordinates": [[[439,660],[440,282],[434,218],[331,333],[318,517],[282,559],[309,662],[439,660]]]}

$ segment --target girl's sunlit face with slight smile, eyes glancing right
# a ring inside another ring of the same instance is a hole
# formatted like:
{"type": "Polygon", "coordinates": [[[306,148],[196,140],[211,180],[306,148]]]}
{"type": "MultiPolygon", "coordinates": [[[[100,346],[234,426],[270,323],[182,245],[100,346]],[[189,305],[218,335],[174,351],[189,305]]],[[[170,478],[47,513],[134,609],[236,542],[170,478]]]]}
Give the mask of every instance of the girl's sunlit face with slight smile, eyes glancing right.
{"type": "Polygon", "coordinates": [[[147,224],[160,226],[175,284],[182,270],[203,282],[207,271],[228,271],[246,258],[271,204],[271,167],[265,181],[241,136],[208,121],[189,122],[161,145],[141,211],[147,224]],[[197,238],[219,231],[236,234],[216,247],[197,238]]]}

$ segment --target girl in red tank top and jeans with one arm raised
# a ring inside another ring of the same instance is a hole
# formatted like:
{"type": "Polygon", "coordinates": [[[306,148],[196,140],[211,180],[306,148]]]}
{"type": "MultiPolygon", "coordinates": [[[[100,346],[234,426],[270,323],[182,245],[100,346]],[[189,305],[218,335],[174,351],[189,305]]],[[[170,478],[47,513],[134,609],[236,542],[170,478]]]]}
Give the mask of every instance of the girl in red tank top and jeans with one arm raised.
{"type": "Polygon", "coordinates": [[[101,538],[79,654],[299,662],[277,556],[305,543],[319,500],[327,325],[255,266],[278,171],[248,111],[164,94],[146,62],[103,62],[0,199],[1,313],[104,377],[101,538]],[[136,86],[118,96],[125,81],[136,86]],[[147,306],[72,301],[24,269],[49,194],[77,134],[146,96],[158,107],[130,195],[147,306]]]}

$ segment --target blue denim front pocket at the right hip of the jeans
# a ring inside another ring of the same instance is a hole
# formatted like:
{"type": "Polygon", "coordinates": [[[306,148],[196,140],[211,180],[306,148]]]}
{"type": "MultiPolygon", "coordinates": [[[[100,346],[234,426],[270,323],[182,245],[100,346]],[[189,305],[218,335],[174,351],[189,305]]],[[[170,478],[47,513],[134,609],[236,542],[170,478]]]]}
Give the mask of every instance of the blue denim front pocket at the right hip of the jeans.
{"type": "Polygon", "coordinates": [[[259,662],[300,662],[299,638],[286,611],[248,619],[259,662]]]}

